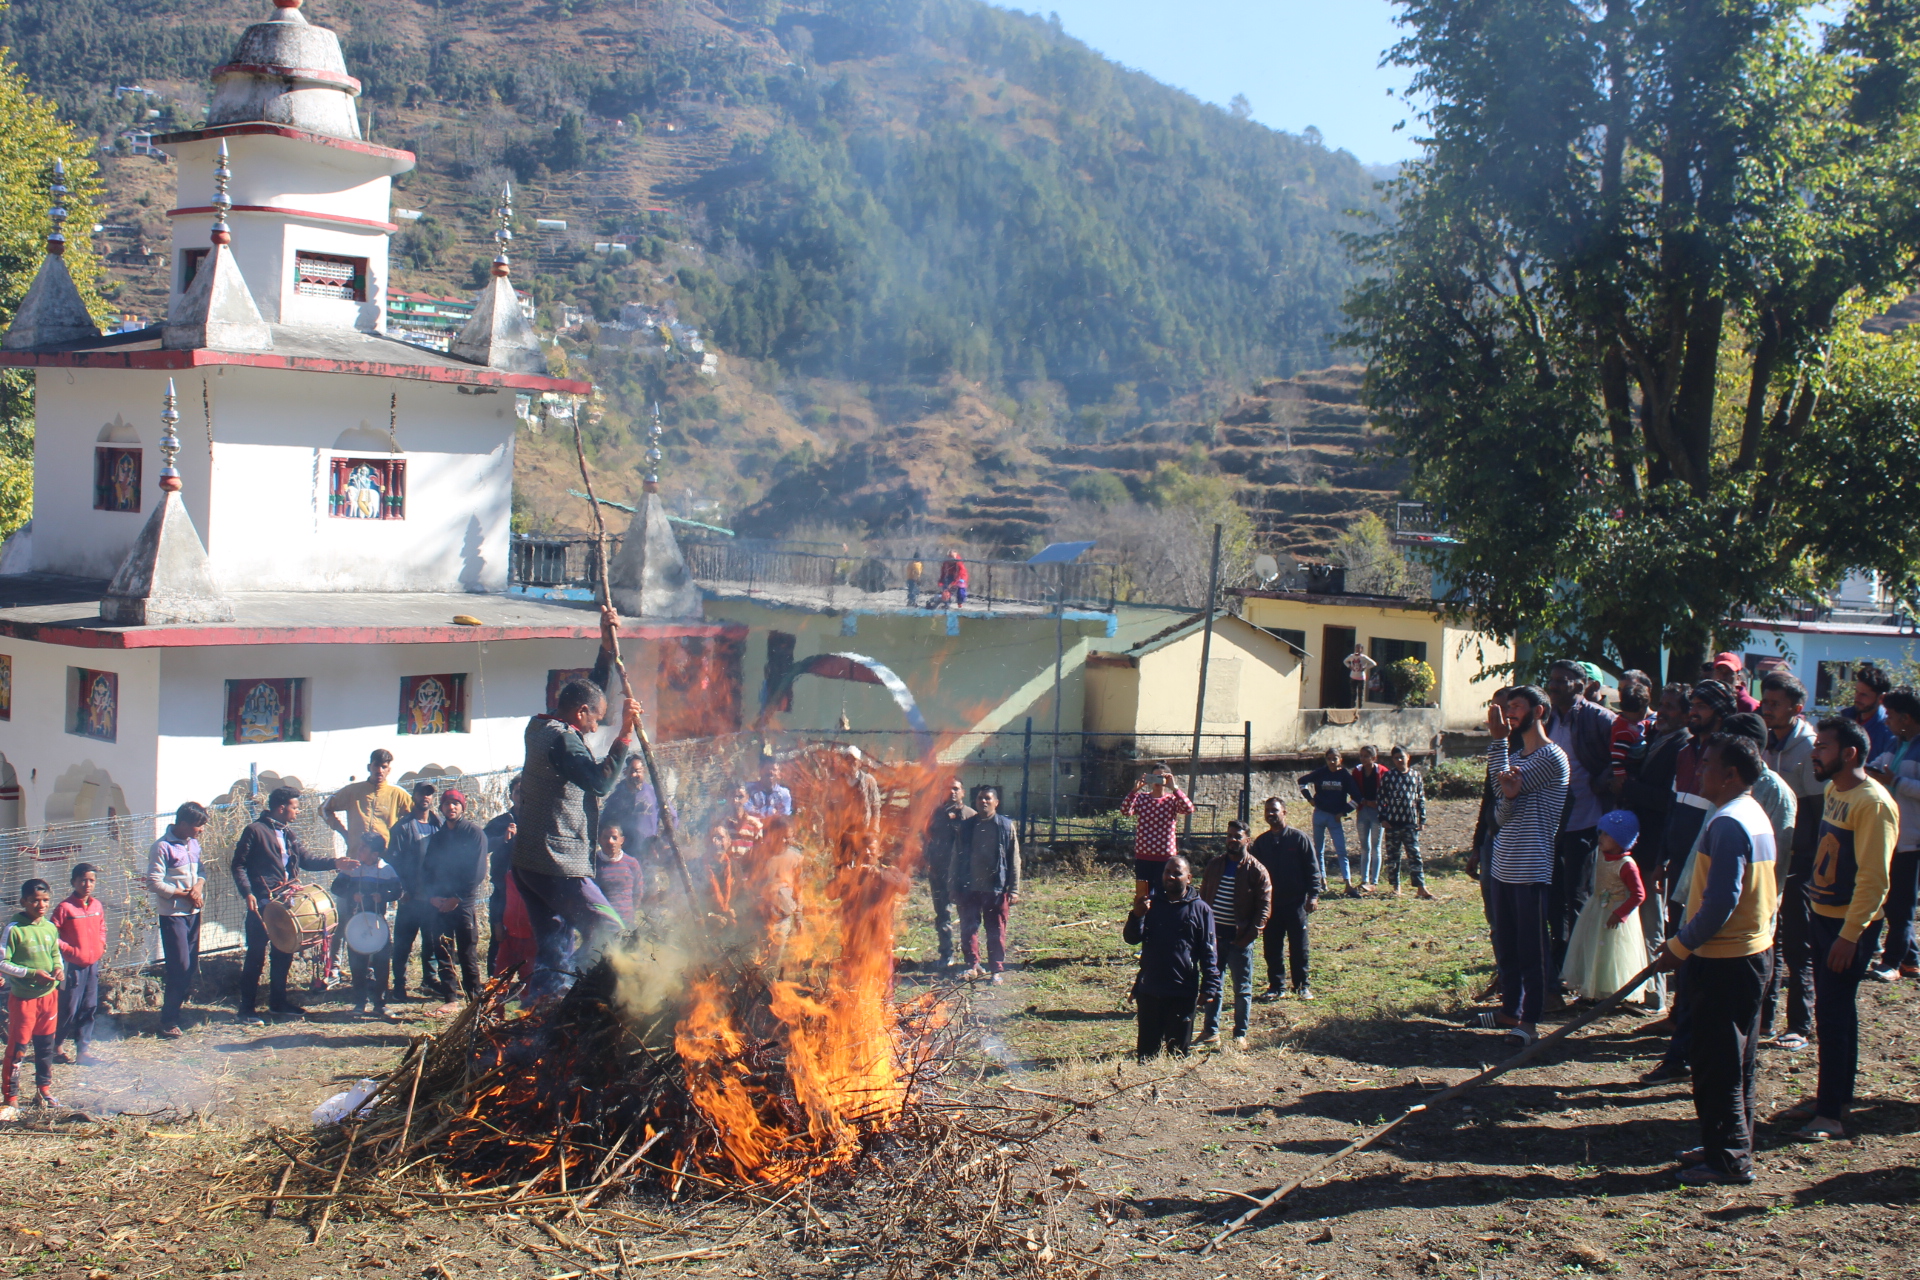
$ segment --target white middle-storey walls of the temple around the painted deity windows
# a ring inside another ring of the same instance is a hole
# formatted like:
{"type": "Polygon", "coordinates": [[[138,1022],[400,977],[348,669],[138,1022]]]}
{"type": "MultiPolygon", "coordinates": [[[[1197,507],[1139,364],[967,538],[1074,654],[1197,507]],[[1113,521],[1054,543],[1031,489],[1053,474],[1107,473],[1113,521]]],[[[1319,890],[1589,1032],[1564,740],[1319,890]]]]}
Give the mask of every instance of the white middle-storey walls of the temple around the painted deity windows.
{"type": "MultiPolygon", "coordinates": [[[[234,591],[501,591],[513,510],[513,393],[217,365],[177,378],[186,509],[234,591]],[[205,401],[202,399],[205,388],[205,401]],[[328,514],[332,457],[388,457],[397,393],[405,520],[328,514]],[[213,443],[207,443],[211,407],[213,443]]],[[[42,370],[35,568],[109,578],[159,499],[167,376],[42,370]],[[142,449],[140,512],[94,510],[94,449],[125,422],[142,449]]]]}

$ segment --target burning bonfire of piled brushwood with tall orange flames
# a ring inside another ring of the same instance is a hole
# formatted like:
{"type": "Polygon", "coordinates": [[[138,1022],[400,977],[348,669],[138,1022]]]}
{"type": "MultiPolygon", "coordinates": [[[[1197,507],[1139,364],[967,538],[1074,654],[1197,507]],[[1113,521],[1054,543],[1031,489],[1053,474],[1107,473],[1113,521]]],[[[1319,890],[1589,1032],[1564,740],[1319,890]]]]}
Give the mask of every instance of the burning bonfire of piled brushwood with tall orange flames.
{"type": "Polygon", "coordinates": [[[338,1126],[271,1134],[278,1159],[253,1169],[278,1171],[273,1190],[225,1203],[303,1205],[315,1240],[336,1207],[403,1201],[515,1213],[563,1240],[547,1219],[614,1197],[772,1207],[804,1188],[812,1213],[816,1188],[860,1186],[866,1247],[897,1274],[993,1247],[1012,1167],[1056,1119],[956,1098],[958,994],[895,992],[925,823],[912,796],[933,794],[920,773],[803,752],[797,818],[751,865],[682,833],[699,842],[684,873],[564,998],[528,1009],[492,983],[338,1126]],[[799,906],[791,929],[762,906],[774,881],[799,906]]]}

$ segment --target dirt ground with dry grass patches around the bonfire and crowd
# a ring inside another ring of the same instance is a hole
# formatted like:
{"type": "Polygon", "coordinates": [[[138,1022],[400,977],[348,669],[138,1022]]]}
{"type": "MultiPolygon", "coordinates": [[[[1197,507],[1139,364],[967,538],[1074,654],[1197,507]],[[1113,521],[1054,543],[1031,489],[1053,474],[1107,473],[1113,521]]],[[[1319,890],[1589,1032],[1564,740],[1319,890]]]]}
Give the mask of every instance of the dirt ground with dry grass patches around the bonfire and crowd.
{"type": "MultiPolygon", "coordinates": [[[[1471,804],[1434,806],[1427,846],[1450,854],[1467,829],[1471,804]]],[[[1127,1054],[1125,883],[1098,871],[1035,877],[1014,910],[1008,983],[954,994],[972,1002],[981,1061],[950,1088],[1056,1115],[1071,1107],[1066,1100],[1100,1102],[1071,1109],[1020,1165],[1023,1197],[1006,1219],[1014,1234],[993,1236],[1006,1247],[983,1247],[972,1272],[1031,1274],[1046,1247],[1052,1268],[1079,1280],[1094,1270],[1194,1280],[1920,1274],[1920,994],[1910,983],[1860,990],[1857,1140],[1795,1146],[1763,1126],[1749,1188],[1674,1186],[1672,1153],[1697,1140],[1692,1098],[1686,1084],[1636,1084],[1661,1042],[1620,1013],[1411,1119],[1202,1257],[1196,1247],[1244,1203],[1225,1192],[1265,1194],[1509,1052],[1490,1032],[1457,1029],[1488,958],[1476,887],[1450,858],[1434,862],[1440,902],[1323,904],[1313,921],[1321,998],[1256,1006],[1250,1052],[1150,1067],[1127,1054]]],[[[902,994],[931,981],[925,913],[920,890],[900,946],[902,994]]],[[[620,1244],[628,1274],[889,1274],[860,1236],[858,1184],[822,1186],[804,1213],[791,1201],[637,1196],[614,1205],[628,1217],[566,1226],[574,1249],[516,1215],[396,1207],[344,1217],[309,1245],[303,1222],[269,1221],[253,1205],[209,1213],[240,1184],[221,1180],[246,1171],[234,1161],[265,1159],[263,1126],[307,1125],[319,1102],[436,1025],[422,1004],[399,1006],[401,1025],[353,1021],[338,996],[309,1004],[305,1023],[253,1031],[209,1011],[180,1042],[154,1038],[152,1013],[119,1015],[117,1038],[100,1044],[111,1065],[58,1069],[61,1100],[86,1117],[0,1125],[0,1267],[71,1280],[578,1278],[593,1267],[616,1274],[616,1261],[593,1255],[620,1244]],[[643,1265],[699,1249],[718,1251],[643,1265]]],[[[1812,1088],[1814,1050],[1766,1050],[1761,1069],[1770,1113],[1812,1088]]]]}

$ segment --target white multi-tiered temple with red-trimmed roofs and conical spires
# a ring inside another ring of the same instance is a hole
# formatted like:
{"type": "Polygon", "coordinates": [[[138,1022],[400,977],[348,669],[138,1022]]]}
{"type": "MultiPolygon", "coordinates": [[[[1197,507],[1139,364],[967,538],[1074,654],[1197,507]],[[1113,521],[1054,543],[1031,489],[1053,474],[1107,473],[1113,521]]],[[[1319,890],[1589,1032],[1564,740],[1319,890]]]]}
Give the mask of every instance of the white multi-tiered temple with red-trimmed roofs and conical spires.
{"type": "MultiPolygon", "coordinates": [[[[56,173],[0,338],[36,370],[33,520],[0,551],[0,827],[171,810],[250,770],[330,787],[372,747],[399,773],[511,768],[593,660],[589,606],[505,595],[515,395],[591,391],[547,376],[515,305],[511,211],[451,353],[388,338],[413,155],[361,138],[338,38],[275,6],[213,69],[207,125],[154,140],[179,159],[165,322],[94,326],[56,173]]],[[[662,662],[737,672],[741,631],[699,620],[653,524],[614,581],[649,708],[662,662]]]]}

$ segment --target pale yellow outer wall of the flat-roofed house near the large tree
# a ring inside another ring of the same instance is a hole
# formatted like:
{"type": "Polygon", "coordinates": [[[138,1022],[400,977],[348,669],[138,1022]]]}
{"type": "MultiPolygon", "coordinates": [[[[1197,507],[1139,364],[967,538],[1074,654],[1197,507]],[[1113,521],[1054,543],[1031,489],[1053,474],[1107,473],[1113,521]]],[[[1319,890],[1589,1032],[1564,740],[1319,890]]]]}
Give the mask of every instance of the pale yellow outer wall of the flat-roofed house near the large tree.
{"type": "MultiPolygon", "coordinates": [[[[1246,620],[1260,628],[1306,631],[1306,687],[1300,704],[1304,708],[1338,706],[1344,689],[1323,687],[1325,629],[1354,628],[1356,641],[1371,645],[1375,639],[1419,641],[1427,645],[1427,664],[1434,668],[1440,681],[1438,697],[1448,727],[1465,727],[1484,722],[1486,699],[1494,685],[1475,681],[1486,668],[1513,658],[1513,649],[1498,637],[1465,631],[1448,626],[1440,614],[1425,608],[1394,608],[1388,604],[1346,604],[1319,601],[1275,601],[1263,597],[1244,599],[1246,620]]],[[[1348,651],[1352,652],[1352,651],[1348,651]]],[[[1346,679],[1340,670],[1338,679],[1346,679]]]]}

